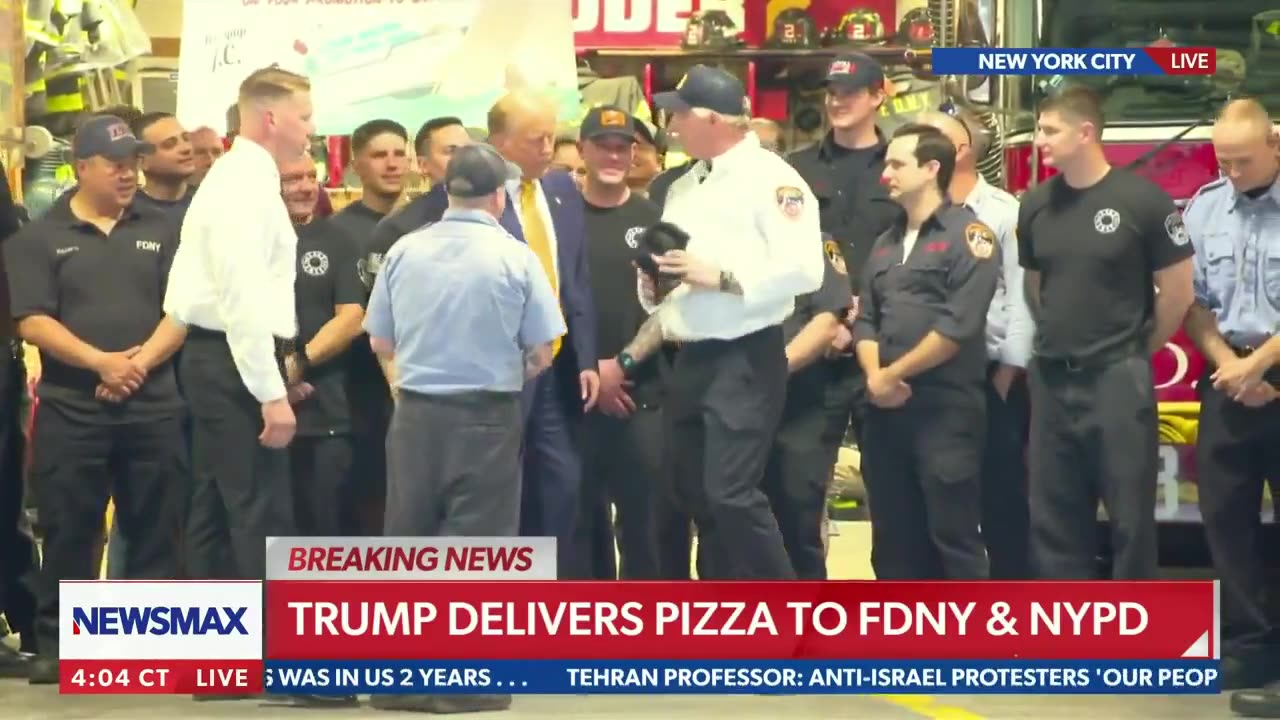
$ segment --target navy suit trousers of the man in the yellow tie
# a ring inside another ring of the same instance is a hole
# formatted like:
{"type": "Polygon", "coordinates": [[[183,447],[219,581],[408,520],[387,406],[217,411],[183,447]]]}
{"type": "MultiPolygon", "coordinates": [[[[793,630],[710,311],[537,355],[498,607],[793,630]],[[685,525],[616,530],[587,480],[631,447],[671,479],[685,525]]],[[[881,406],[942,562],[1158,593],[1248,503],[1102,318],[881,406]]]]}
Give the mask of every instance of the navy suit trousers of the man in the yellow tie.
{"type": "Polygon", "coordinates": [[[556,562],[562,577],[572,574],[573,532],[577,527],[582,459],[580,423],[564,406],[559,368],[552,366],[525,384],[524,470],[520,534],[556,538],[556,562]]]}

